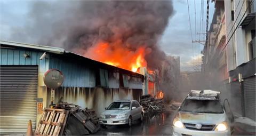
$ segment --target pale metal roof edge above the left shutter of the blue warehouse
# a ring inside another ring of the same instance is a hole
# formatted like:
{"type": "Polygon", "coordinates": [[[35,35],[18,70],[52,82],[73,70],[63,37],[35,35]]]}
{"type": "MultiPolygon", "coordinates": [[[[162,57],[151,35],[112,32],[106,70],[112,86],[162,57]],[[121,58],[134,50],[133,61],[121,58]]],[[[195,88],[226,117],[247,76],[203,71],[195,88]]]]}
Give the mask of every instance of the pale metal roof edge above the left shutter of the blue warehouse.
{"type": "Polygon", "coordinates": [[[11,42],[11,41],[1,41],[0,44],[5,45],[12,45],[17,47],[27,47],[30,49],[37,49],[45,52],[51,52],[56,54],[63,54],[65,53],[65,50],[59,47],[52,47],[52,46],[44,46],[44,45],[36,45],[36,44],[27,44],[27,43],[18,43],[18,42],[11,42]]]}

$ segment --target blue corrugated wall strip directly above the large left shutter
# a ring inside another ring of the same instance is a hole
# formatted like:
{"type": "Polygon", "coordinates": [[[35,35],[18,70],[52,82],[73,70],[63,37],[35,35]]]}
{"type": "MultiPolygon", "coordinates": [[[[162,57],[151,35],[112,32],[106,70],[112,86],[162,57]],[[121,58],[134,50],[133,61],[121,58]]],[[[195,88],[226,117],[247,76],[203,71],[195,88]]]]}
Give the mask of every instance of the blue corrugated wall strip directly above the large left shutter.
{"type": "Polygon", "coordinates": [[[40,60],[39,58],[44,52],[25,49],[4,49],[1,48],[0,64],[1,65],[39,65],[40,71],[48,69],[48,61],[46,59],[40,60]],[[28,54],[29,57],[25,58],[23,54],[28,54]]]}

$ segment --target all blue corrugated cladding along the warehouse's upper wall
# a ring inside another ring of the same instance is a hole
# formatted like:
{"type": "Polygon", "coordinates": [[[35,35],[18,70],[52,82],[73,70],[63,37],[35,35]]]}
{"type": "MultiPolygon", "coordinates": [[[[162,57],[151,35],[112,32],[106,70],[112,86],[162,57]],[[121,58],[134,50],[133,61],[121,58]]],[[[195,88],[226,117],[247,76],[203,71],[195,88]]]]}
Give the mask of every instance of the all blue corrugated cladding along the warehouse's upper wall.
{"type": "MultiPolygon", "coordinates": [[[[38,65],[39,73],[45,73],[47,69],[59,69],[65,76],[62,86],[67,87],[95,87],[96,75],[93,69],[86,67],[83,63],[62,58],[61,55],[51,55],[46,59],[39,58],[44,52],[25,49],[4,49],[0,52],[1,65],[38,65]],[[23,54],[28,54],[25,58],[23,54]]],[[[49,53],[48,53],[49,55],[49,53]]],[[[109,88],[119,88],[119,73],[109,73],[109,88]]],[[[129,81],[130,89],[141,89],[142,84],[129,81]]]]}

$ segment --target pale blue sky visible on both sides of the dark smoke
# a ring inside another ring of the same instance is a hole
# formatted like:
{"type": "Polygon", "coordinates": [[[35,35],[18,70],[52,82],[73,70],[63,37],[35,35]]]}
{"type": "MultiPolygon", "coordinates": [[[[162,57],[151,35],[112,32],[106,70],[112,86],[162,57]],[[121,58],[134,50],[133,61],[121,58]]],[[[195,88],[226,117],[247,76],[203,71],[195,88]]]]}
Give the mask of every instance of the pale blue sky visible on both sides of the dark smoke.
{"type": "MultiPolygon", "coordinates": [[[[192,40],[204,40],[205,38],[205,35],[196,35],[196,33],[206,32],[206,1],[207,0],[188,0],[187,3],[187,0],[173,0],[175,12],[169,19],[169,24],[158,44],[167,55],[180,57],[181,71],[193,71],[196,68],[200,68],[202,57],[200,52],[203,50],[203,45],[192,43],[192,40]],[[195,3],[196,13],[194,10],[195,3]],[[201,21],[201,3],[204,5],[204,14],[202,15],[204,21],[201,21]],[[189,27],[188,4],[192,37],[189,27]],[[199,25],[200,22],[202,24],[201,27],[199,25]]],[[[0,40],[15,41],[12,37],[14,33],[12,30],[13,28],[19,28],[25,25],[31,2],[33,1],[0,0],[0,40]]],[[[213,11],[214,3],[210,1],[209,27],[213,11]]],[[[23,41],[20,39],[20,41],[17,42],[23,41]]]]}

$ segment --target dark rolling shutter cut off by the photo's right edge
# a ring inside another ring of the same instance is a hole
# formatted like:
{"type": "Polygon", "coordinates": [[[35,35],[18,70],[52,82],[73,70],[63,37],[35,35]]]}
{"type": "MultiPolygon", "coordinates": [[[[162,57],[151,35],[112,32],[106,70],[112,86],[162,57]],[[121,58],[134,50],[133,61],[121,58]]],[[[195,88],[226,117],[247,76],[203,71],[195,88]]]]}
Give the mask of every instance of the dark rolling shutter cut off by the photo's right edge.
{"type": "Polygon", "coordinates": [[[255,121],[255,76],[244,79],[245,116],[255,121]]]}

